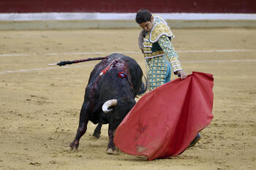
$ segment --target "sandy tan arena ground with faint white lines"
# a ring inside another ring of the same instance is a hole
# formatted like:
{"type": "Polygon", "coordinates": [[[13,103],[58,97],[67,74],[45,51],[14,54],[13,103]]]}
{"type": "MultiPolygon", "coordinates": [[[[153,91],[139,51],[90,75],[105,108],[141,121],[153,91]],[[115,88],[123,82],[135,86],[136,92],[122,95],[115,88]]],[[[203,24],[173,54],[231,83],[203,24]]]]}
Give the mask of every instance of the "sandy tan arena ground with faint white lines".
{"type": "Polygon", "coordinates": [[[214,74],[214,120],[195,147],[155,161],[123,152],[107,155],[108,125],[94,139],[96,125],[89,123],[78,152],[65,150],[98,62],[48,63],[125,52],[146,72],[138,33],[0,31],[0,169],[256,169],[256,28],[173,29],[184,71],[214,74]]]}

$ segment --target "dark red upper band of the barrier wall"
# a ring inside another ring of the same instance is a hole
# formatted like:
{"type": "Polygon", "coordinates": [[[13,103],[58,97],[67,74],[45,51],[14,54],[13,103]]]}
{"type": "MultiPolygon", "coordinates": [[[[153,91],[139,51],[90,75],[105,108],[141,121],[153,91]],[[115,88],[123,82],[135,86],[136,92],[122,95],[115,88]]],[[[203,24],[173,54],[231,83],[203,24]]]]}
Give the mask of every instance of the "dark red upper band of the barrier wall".
{"type": "Polygon", "coordinates": [[[1,0],[0,13],[10,12],[195,12],[255,13],[255,0],[1,0]]]}

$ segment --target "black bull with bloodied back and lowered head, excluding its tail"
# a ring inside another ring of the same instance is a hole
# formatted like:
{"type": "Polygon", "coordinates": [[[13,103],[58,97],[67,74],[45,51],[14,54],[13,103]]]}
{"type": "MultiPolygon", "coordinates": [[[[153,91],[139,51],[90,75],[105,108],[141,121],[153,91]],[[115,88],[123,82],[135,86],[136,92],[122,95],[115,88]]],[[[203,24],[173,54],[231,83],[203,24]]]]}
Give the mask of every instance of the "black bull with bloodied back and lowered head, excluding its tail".
{"type": "Polygon", "coordinates": [[[116,128],[136,104],[135,97],[145,93],[147,84],[138,63],[126,55],[113,53],[96,66],[89,77],[78,131],[69,149],[77,150],[79,140],[86,133],[89,120],[97,124],[94,136],[99,138],[102,124],[108,125],[108,153],[116,151],[113,136],[116,128]]]}

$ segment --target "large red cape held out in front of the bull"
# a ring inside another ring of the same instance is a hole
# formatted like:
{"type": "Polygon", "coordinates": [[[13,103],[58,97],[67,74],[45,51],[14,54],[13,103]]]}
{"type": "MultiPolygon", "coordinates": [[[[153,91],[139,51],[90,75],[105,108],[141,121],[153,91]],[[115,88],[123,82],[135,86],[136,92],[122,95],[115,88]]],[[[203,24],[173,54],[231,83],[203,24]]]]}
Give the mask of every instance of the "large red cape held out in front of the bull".
{"type": "Polygon", "coordinates": [[[114,143],[149,161],[181,154],[211,123],[212,74],[192,72],[146,93],[116,129],[114,143]]]}

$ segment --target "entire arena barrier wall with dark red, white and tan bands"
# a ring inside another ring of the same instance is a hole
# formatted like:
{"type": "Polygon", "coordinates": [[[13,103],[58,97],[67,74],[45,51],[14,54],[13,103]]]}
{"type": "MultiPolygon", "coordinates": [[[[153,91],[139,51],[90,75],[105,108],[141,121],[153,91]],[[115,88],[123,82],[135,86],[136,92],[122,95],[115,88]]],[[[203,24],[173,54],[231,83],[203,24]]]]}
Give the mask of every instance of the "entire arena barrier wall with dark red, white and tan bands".
{"type": "Polygon", "coordinates": [[[1,0],[0,29],[138,28],[138,9],[174,28],[256,27],[255,0],[1,0]]]}

